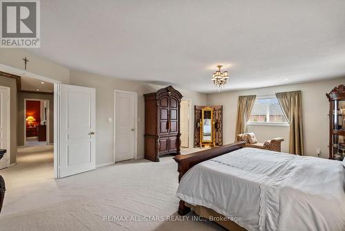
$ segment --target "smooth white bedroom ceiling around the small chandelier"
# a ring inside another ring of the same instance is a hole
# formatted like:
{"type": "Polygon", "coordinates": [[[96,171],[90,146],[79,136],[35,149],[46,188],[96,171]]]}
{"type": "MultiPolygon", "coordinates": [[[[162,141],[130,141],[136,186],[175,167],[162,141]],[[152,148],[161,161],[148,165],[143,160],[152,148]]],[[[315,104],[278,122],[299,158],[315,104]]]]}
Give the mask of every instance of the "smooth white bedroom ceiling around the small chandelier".
{"type": "Polygon", "coordinates": [[[217,91],[345,76],[344,0],[41,1],[41,48],[72,69],[217,91]]]}

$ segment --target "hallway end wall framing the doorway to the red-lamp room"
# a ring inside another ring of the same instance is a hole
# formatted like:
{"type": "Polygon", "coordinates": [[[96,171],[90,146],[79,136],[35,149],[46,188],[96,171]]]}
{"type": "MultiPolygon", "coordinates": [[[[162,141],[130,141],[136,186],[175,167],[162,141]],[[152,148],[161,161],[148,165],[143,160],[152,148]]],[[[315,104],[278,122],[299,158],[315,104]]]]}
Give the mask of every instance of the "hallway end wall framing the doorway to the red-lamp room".
{"type": "Polygon", "coordinates": [[[49,141],[54,142],[54,95],[43,95],[35,93],[18,93],[18,127],[17,127],[17,144],[18,146],[24,145],[24,99],[30,100],[49,100],[49,141]]]}

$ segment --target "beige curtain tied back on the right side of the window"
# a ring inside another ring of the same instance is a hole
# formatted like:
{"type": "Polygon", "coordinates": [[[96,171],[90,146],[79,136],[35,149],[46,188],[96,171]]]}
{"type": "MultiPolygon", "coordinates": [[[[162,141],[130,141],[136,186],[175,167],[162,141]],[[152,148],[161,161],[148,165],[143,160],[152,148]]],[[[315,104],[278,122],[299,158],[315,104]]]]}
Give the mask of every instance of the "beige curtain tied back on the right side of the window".
{"type": "Polygon", "coordinates": [[[302,98],[301,91],[275,93],[290,124],[288,152],[303,156],[302,98]]]}

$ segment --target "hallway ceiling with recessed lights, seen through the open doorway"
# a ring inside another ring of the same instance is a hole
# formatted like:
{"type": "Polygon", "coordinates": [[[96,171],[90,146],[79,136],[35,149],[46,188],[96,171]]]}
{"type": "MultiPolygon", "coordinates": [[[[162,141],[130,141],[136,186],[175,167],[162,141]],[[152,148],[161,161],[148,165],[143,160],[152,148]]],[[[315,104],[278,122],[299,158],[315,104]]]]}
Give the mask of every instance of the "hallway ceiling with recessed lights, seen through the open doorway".
{"type": "Polygon", "coordinates": [[[21,76],[21,91],[36,91],[36,92],[54,92],[54,84],[50,82],[42,82],[41,80],[21,76]]]}

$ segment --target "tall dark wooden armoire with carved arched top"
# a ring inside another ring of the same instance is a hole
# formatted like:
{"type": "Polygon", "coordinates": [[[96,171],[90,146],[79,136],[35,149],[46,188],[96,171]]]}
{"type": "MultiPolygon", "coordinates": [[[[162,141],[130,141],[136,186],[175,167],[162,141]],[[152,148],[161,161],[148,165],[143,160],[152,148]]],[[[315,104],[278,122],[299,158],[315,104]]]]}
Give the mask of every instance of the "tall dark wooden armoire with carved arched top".
{"type": "Polygon", "coordinates": [[[179,109],[182,95],[172,86],[145,98],[145,158],[159,161],[164,154],[180,154],[179,109]]]}

